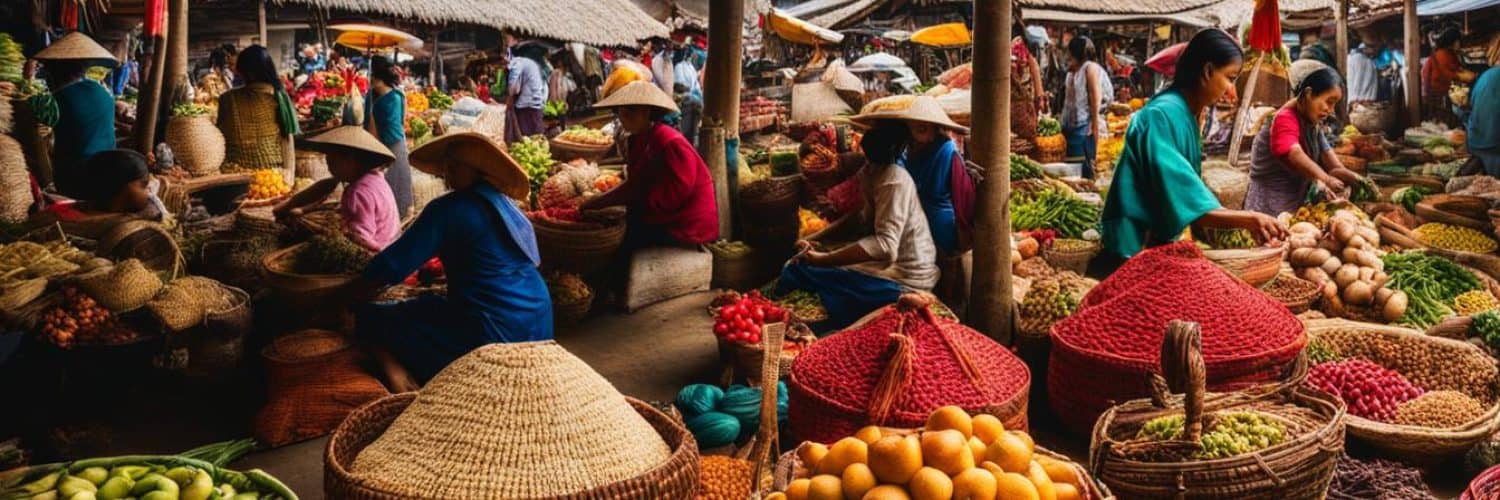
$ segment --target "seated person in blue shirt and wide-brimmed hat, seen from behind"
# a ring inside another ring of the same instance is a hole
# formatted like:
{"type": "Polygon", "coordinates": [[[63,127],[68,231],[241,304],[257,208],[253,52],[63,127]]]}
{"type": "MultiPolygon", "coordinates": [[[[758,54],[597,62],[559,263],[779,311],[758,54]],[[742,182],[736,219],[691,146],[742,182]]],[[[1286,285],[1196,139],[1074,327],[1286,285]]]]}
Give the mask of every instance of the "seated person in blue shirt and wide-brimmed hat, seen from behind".
{"type": "Polygon", "coordinates": [[[537,270],[536,233],[512,201],[530,194],[520,165],[474,132],[442,135],[412,150],[411,164],[453,191],[432,200],[342,290],[345,299],[372,297],[432,257],[442,260],[447,296],[354,308],[356,335],[374,344],[393,392],[417,389],[482,345],[552,338],[552,299],[537,270]]]}

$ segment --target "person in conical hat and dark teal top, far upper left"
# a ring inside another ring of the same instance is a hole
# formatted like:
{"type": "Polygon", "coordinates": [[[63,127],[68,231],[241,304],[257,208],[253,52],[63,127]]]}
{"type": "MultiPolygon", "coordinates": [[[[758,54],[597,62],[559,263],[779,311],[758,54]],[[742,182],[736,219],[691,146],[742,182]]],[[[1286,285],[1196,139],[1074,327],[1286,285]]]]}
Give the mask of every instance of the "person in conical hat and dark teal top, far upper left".
{"type": "Polygon", "coordinates": [[[57,102],[57,123],[52,125],[52,185],[69,198],[94,192],[84,161],[94,153],[116,147],[114,96],[104,84],[88,80],[84,72],[93,66],[114,68],[114,56],[87,35],[70,33],[36,53],[46,71],[46,86],[57,102]]]}

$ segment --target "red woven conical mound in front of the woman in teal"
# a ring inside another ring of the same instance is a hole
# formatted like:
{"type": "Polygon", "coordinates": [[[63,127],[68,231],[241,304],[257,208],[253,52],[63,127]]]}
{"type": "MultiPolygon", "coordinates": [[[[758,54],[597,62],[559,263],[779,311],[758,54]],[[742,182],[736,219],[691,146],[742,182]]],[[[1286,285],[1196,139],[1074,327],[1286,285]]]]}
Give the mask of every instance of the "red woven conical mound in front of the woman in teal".
{"type": "Polygon", "coordinates": [[[1052,339],[1074,351],[1155,369],[1172,320],[1202,326],[1203,357],[1210,368],[1245,359],[1280,365],[1306,344],[1305,327],[1292,311],[1221,270],[1192,242],[1156,246],[1125,261],[1083,297],[1074,315],[1053,326],[1052,339]]]}

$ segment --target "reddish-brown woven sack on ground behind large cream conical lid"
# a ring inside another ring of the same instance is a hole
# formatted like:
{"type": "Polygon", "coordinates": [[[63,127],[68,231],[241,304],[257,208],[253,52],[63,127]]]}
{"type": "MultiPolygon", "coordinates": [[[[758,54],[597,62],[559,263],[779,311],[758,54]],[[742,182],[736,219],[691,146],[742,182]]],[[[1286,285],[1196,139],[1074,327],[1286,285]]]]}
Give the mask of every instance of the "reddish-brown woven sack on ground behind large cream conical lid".
{"type": "Polygon", "coordinates": [[[261,350],[261,357],[267,402],[255,414],[254,431],[270,446],[327,435],[356,408],[390,395],[334,332],[284,335],[261,350]]]}

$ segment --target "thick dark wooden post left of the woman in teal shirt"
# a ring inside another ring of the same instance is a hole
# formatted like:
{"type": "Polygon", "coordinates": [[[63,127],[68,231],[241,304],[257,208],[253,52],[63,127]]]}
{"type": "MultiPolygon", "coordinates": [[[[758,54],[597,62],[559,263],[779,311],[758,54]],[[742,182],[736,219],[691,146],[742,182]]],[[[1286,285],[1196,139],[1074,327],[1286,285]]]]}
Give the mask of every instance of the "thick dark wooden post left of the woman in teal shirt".
{"type": "Polygon", "coordinates": [[[974,2],[972,158],[984,167],[974,228],[969,323],[1011,341],[1011,2],[974,2]]]}

